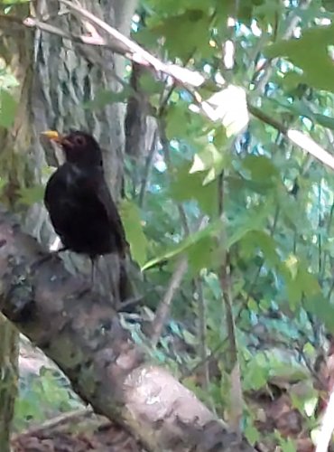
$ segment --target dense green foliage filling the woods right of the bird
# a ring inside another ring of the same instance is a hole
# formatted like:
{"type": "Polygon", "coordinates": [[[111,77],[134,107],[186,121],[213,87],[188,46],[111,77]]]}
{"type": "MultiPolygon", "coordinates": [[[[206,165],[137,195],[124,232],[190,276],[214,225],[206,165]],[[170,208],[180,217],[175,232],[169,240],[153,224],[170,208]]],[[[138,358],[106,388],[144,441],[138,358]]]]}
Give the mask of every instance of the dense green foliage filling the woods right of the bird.
{"type": "MultiPolygon", "coordinates": [[[[220,121],[210,121],[195,112],[189,89],[143,77],[160,145],[147,157],[151,167],[144,159],[128,163],[136,177],[127,181],[132,199],[122,216],[133,257],[144,269],[149,306],[157,306],[178,258],[189,260],[173,300],[176,320],[153,355],[227,420],[237,358],[250,441],[262,437],[249,394],[310,380],[308,367],[322,352],[325,334],[334,333],[334,178],[271,121],[332,146],[332,15],[318,1],[142,0],[134,18],[133,38],[166,61],[205,73],[208,83],[199,92],[223,112],[220,121]],[[240,92],[265,122],[248,118],[240,92]],[[207,369],[209,381],[199,348],[215,367],[207,369]]],[[[0,89],[3,127],[14,118],[8,92],[0,89]]],[[[131,92],[127,73],[122,92],[97,93],[84,107],[124,101],[131,92]]],[[[37,187],[23,200],[40,195],[37,187]]],[[[307,414],[305,407],[314,397],[308,391],[295,402],[310,430],[314,410],[307,414]]],[[[282,450],[294,450],[292,439],[271,433],[282,450]]]]}

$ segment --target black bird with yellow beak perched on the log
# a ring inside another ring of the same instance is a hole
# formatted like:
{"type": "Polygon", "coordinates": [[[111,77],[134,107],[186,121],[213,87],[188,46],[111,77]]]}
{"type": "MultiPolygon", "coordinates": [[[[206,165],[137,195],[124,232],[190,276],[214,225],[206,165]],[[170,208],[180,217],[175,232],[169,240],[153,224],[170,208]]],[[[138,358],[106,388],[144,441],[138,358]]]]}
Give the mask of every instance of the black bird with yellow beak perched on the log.
{"type": "Polygon", "coordinates": [[[65,163],[51,175],[44,194],[45,207],[62,250],[88,255],[94,262],[105,254],[125,259],[128,244],[104,175],[102,152],[97,141],[85,132],[61,136],[49,130],[42,136],[60,145],[65,163]]]}

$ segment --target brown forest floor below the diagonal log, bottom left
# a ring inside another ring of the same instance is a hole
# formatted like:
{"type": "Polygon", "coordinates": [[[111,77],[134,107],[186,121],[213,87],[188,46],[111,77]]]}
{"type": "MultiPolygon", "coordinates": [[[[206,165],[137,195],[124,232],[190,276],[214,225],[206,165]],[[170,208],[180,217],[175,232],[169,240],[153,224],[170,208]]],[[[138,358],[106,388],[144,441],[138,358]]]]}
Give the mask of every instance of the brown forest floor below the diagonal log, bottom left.
{"type": "MultiPolygon", "coordinates": [[[[41,381],[43,368],[59,372],[39,349],[22,338],[20,382],[41,381]]],[[[21,395],[20,395],[21,397],[21,395]]],[[[24,397],[24,395],[22,396],[24,397]]],[[[37,394],[36,397],[41,397],[37,394]]],[[[41,407],[42,409],[42,407],[41,407]]],[[[54,413],[41,422],[32,421],[12,438],[13,452],[143,452],[124,428],[113,424],[82,404],[79,410],[54,413]],[[54,415],[55,414],[55,415],[54,415]]]]}

